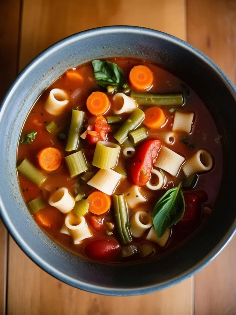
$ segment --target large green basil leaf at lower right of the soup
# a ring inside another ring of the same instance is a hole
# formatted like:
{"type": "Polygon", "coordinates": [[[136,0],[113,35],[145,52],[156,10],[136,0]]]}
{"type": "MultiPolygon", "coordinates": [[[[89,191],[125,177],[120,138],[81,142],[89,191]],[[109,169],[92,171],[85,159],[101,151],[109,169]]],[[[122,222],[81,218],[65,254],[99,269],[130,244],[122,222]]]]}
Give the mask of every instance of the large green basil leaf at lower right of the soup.
{"type": "Polygon", "coordinates": [[[180,186],[181,183],[178,187],[168,190],[153,209],[152,219],[158,238],[164,235],[168,227],[176,224],[183,217],[185,203],[180,186]]]}

